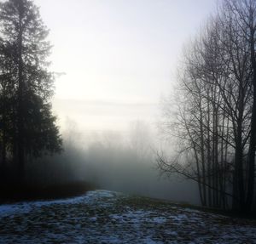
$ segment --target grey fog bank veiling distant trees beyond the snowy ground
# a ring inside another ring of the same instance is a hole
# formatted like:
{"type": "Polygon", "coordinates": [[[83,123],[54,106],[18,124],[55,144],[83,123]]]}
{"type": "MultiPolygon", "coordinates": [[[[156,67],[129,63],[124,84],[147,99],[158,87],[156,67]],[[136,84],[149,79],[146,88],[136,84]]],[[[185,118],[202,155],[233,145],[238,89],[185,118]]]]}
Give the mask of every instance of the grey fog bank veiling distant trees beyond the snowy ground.
{"type": "Polygon", "coordinates": [[[81,133],[72,120],[67,119],[66,124],[64,151],[27,163],[32,184],[85,181],[96,189],[200,203],[194,182],[177,175],[160,175],[155,162],[155,134],[146,122],[131,122],[124,133],[81,133]]]}

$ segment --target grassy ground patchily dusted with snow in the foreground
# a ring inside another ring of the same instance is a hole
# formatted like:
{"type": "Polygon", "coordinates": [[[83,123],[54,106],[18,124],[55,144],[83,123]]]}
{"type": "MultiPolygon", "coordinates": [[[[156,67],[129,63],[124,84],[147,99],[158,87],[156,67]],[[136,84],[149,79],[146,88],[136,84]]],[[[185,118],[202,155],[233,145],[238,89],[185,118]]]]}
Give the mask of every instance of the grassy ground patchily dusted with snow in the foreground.
{"type": "Polygon", "coordinates": [[[107,190],[0,206],[0,243],[256,243],[254,221],[107,190]]]}

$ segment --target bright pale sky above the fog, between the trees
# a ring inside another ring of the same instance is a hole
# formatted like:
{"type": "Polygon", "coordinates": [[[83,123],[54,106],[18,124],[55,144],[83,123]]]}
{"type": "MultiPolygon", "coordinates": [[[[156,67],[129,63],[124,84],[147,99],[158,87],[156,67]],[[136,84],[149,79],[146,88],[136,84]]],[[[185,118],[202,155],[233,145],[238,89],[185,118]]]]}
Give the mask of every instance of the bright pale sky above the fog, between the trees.
{"type": "Polygon", "coordinates": [[[183,46],[216,0],[35,0],[53,44],[53,109],[61,127],[124,130],[154,124],[183,46]]]}

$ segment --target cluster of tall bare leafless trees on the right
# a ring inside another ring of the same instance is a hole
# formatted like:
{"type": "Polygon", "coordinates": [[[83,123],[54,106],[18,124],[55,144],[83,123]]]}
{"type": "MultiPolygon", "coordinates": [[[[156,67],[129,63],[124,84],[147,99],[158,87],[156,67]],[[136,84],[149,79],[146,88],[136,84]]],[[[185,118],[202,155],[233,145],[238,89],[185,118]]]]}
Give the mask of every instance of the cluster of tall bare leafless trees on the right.
{"type": "Polygon", "coordinates": [[[171,161],[159,154],[158,165],[197,181],[203,206],[250,212],[256,193],[256,1],[221,3],[183,56],[176,119],[171,105],[164,123],[180,146],[171,161]]]}

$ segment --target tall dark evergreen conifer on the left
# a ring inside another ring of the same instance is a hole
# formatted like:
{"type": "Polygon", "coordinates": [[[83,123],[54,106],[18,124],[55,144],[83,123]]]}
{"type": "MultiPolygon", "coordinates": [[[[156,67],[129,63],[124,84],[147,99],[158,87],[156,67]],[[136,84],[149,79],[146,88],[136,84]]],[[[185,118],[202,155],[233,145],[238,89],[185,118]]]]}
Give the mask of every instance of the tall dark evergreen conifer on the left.
{"type": "Polygon", "coordinates": [[[20,183],[28,160],[61,150],[50,104],[48,32],[31,0],[0,3],[1,180],[12,174],[20,183]]]}

